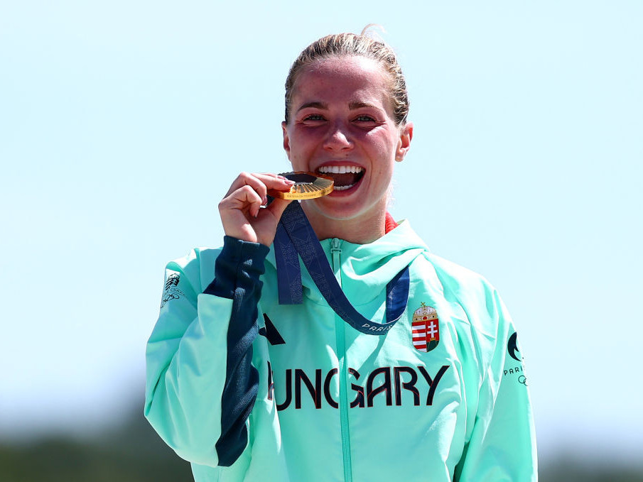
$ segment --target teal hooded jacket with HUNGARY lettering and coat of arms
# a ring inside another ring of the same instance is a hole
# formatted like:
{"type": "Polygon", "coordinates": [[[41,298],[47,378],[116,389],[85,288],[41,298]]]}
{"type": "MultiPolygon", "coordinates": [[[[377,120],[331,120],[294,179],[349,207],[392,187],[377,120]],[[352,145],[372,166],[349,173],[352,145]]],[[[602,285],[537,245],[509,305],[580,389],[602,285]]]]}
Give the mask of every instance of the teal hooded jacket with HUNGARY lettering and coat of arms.
{"type": "Polygon", "coordinates": [[[495,289],[407,221],[373,243],[322,245],[377,322],[409,265],[406,312],[386,334],[346,324],[303,266],[303,303],[279,305],[266,246],[227,238],[168,264],[145,415],[195,481],[536,481],[524,363],[495,289]]]}

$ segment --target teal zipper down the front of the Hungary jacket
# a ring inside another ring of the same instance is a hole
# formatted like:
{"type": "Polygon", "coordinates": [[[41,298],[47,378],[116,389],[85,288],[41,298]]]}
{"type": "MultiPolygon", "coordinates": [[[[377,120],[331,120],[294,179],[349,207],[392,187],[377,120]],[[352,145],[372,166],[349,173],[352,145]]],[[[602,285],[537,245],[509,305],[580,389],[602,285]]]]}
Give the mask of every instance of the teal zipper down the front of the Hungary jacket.
{"type": "MultiPolygon", "coordinates": [[[[342,285],[340,270],[340,255],[342,254],[342,240],[333,238],[330,241],[330,253],[333,255],[333,272],[337,283],[342,285]]],[[[347,395],[347,369],[346,369],[346,341],[345,322],[335,314],[335,339],[337,341],[338,373],[340,376],[340,425],[342,429],[342,456],[344,460],[344,481],[352,482],[352,464],[350,461],[350,432],[348,427],[348,395],[347,395]]]]}

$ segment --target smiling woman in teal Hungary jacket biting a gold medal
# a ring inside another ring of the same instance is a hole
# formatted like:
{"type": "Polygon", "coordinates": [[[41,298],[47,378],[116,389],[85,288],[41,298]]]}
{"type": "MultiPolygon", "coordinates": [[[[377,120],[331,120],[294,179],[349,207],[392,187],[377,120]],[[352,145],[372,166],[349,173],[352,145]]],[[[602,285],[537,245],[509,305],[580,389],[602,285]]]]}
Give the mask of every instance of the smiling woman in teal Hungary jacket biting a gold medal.
{"type": "Polygon", "coordinates": [[[536,480],[504,305],[387,214],[408,109],[387,45],[311,44],[286,80],[283,148],[335,190],[303,217],[268,203],[292,181],[242,173],[219,204],[223,248],[168,264],[146,417],[195,481],[536,480]]]}

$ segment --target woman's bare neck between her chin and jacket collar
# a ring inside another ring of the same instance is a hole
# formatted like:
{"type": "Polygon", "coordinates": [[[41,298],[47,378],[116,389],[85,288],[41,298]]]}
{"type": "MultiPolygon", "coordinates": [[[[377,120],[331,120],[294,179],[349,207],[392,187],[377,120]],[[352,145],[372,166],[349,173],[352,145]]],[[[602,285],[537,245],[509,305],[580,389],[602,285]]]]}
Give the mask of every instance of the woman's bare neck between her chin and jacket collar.
{"type": "Polygon", "coordinates": [[[332,219],[315,209],[306,209],[305,202],[302,208],[319,240],[339,238],[349,243],[367,244],[386,234],[386,211],[365,213],[355,219],[332,219]]]}

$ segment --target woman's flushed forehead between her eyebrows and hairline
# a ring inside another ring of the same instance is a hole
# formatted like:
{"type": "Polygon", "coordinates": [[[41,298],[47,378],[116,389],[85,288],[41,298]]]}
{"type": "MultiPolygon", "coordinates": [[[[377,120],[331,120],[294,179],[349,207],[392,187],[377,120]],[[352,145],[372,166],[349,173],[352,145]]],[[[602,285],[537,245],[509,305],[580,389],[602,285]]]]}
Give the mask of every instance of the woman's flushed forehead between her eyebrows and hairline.
{"type": "Polygon", "coordinates": [[[367,57],[332,57],[304,67],[293,88],[296,104],[320,102],[377,102],[388,107],[389,77],[367,57]]]}

